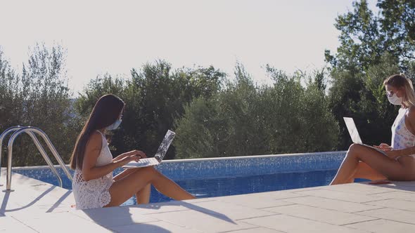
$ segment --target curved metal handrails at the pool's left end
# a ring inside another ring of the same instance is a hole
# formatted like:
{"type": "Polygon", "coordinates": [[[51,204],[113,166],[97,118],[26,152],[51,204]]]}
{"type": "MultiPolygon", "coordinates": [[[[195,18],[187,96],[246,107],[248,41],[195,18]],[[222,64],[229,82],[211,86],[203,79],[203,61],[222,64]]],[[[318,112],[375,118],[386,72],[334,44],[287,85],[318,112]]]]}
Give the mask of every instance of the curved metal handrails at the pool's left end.
{"type": "Polygon", "coordinates": [[[65,174],[68,176],[68,178],[72,181],[72,175],[68,171],[68,168],[66,168],[65,163],[60,158],[58,152],[56,151],[56,148],[53,146],[51,140],[46,135],[46,133],[44,133],[44,131],[41,131],[39,128],[35,128],[35,127],[31,127],[31,126],[20,127],[20,129],[18,129],[15,133],[13,133],[13,135],[11,135],[10,140],[8,140],[8,147],[7,147],[8,148],[7,180],[6,180],[6,190],[4,190],[4,192],[13,192],[13,190],[11,189],[11,159],[12,159],[12,156],[13,156],[13,142],[14,142],[15,138],[17,138],[18,135],[20,135],[21,133],[27,133],[28,135],[30,135],[30,138],[32,138],[34,144],[37,146],[37,149],[39,149],[39,152],[41,153],[42,157],[44,157],[46,163],[51,168],[51,171],[53,173],[55,173],[56,177],[58,178],[60,187],[62,187],[62,179],[60,178],[60,175],[58,174],[58,171],[56,171],[56,168],[53,166],[51,160],[47,156],[47,154],[44,151],[43,147],[41,147],[41,144],[40,144],[39,140],[37,140],[37,137],[36,137],[36,135],[34,135],[34,133],[37,133],[38,135],[41,136],[41,138],[44,139],[44,142],[46,142],[46,145],[51,150],[51,152],[52,152],[53,156],[55,157],[56,161],[58,161],[58,164],[61,166],[61,168],[63,169],[65,174]]]}

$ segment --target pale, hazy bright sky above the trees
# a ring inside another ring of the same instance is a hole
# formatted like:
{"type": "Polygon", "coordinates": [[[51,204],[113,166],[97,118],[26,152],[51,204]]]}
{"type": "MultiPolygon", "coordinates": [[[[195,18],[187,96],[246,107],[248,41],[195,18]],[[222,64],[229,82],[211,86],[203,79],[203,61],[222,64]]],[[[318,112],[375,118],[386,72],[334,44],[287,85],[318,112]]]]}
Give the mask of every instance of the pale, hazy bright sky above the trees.
{"type": "Polygon", "coordinates": [[[2,1],[0,46],[20,72],[31,46],[60,44],[75,95],[98,74],[127,79],[159,59],[230,76],[238,61],[266,84],[267,64],[289,74],[324,67],[324,50],[339,45],[335,19],[347,11],[352,0],[2,1]]]}

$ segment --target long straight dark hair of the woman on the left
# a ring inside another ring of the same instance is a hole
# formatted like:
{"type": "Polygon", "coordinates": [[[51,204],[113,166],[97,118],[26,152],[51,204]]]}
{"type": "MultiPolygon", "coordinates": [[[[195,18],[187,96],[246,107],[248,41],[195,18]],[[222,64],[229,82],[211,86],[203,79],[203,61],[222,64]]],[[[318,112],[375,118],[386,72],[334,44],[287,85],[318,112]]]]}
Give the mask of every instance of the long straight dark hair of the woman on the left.
{"type": "Polygon", "coordinates": [[[92,133],[113,124],[120,116],[124,105],[125,103],[119,97],[112,94],[103,95],[96,101],[94,109],[92,109],[91,115],[89,115],[89,119],[84,128],[82,128],[81,133],[79,133],[75,143],[75,148],[70,158],[70,168],[74,170],[76,168],[82,169],[85,148],[92,133]]]}

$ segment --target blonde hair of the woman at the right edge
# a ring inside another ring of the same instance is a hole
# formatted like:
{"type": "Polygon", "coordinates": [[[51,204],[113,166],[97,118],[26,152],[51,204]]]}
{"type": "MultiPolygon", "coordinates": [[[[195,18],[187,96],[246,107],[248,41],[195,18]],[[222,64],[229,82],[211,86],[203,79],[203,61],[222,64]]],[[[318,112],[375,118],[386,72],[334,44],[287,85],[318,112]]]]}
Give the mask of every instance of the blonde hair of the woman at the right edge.
{"type": "Polygon", "coordinates": [[[404,90],[405,93],[402,98],[402,103],[408,107],[415,106],[415,91],[411,79],[408,79],[401,74],[393,74],[383,81],[383,86],[386,85],[404,90]]]}

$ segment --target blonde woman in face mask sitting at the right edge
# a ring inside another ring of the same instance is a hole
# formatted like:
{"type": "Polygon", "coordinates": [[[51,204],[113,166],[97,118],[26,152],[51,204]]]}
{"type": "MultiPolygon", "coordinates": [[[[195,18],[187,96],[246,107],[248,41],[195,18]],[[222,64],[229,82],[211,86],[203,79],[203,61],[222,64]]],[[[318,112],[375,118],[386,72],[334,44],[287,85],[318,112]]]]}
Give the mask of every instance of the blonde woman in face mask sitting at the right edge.
{"type": "Polygon", "coordinates": [[[415,180],[415,92],[411,80],[395,74],[383,81],[392,105],[401,105],[392,125],[392,146],[378,147],[388,154],[358,144],[347,151],[336,177],[330,185],[369,180],[415,180]]]}

